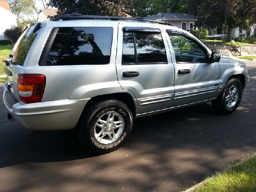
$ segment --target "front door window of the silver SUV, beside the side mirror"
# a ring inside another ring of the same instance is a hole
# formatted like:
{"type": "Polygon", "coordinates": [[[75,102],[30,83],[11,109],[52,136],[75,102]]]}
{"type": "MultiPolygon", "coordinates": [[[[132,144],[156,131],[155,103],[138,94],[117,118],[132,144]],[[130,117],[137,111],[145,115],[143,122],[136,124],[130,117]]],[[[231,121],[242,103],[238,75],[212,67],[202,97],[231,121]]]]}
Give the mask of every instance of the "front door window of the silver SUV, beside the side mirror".
{"type": "Polygon", "coordinates": [[[196,40],[189,36],[168,32],[176,62],[208,62],[208,55],[196,40]]]}

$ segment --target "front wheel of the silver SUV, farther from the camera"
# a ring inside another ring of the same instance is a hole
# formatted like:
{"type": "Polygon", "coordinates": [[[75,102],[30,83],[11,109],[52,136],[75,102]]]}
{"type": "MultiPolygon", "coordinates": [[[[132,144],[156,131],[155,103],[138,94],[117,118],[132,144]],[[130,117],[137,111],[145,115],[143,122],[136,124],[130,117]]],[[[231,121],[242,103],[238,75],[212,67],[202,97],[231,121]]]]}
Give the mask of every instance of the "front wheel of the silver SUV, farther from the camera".
{"type": "Polygon", "coordinates": [[[242,83],[238,78],[228,80],[221,94],[212,101],[213,109],[219,114],[234,112],[241,102],[242,92],[242,83]]]}

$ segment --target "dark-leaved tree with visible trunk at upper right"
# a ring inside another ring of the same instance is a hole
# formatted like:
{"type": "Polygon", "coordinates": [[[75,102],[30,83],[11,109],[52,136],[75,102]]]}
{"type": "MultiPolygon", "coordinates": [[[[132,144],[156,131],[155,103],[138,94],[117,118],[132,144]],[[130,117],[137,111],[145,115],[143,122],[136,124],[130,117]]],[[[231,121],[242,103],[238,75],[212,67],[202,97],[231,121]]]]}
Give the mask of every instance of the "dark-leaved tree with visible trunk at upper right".
{"type": "Polygon", "coordinates": [[[248,29],[256,23],[255,0],[191,0],[189,6],[190,14],[198,16],[196,26],[228,26],[228,41],[233,28],[248,29]]]}

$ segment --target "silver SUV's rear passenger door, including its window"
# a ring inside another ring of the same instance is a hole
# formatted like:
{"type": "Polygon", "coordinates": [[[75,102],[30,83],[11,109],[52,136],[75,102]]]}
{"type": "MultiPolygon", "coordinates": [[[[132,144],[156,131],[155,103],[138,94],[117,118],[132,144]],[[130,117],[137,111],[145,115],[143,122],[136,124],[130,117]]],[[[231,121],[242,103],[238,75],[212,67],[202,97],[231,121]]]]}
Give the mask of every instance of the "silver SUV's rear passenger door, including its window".
{"type": "Polygon", "coordinates": [[[118,26],[116,72],[122,89],[138,101],[138,113],[168,108],[174,96],[174,65],[162,30],[144,23],[118,26]]]}

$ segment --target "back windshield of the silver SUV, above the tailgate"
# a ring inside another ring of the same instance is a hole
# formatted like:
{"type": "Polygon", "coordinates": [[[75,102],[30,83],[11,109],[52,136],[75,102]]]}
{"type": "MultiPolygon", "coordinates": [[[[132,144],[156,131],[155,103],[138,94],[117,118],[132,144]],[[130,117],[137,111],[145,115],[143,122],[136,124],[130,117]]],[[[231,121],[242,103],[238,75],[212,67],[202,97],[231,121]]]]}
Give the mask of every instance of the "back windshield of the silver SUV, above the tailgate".
{"type": "Polygon", "coordinates": [[[13,50],[12,55],[12,61],[15,62],[18,65],[23,66],[24,61],[26,59],[26,56],[28,54],[28,51],[30,50],[30,47],[34,40],[36,39],[36,36],[40,32],[40,23],[38,23],[36,26],[28,28],[24,35],[22,36],[20,42],[18,43],[18,46],[15,50],[13,50]]]}

